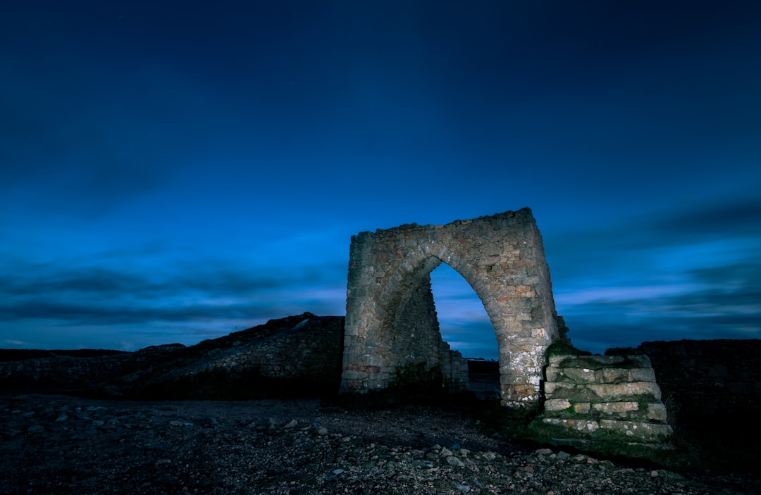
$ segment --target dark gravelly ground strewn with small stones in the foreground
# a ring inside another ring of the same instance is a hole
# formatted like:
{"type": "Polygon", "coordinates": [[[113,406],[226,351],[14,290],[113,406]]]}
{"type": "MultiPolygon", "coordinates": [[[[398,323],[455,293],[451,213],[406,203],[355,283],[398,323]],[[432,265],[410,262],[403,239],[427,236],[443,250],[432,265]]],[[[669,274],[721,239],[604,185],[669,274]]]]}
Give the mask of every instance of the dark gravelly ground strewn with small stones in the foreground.
{"type": "Polygon", "coordinates": [[[0,493],[761,493],[489,436],[463,411],[0,395],[0,493]]]}

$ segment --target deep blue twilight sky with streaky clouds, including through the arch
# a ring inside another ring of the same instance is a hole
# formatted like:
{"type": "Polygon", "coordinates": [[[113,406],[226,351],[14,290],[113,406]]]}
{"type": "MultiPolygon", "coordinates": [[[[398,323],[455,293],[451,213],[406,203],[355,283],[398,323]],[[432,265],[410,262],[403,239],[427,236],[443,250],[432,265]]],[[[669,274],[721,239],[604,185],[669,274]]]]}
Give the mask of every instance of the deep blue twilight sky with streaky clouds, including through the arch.
{"type": "MultiPolygon", "coordinates": [[[[528,206],[578,347],[761,337],[758,2],[0,5],[0,347],[345,314],[350,237],[528,206]]],[[[433,273],[444,332],[495,357],[433,273]]]]}

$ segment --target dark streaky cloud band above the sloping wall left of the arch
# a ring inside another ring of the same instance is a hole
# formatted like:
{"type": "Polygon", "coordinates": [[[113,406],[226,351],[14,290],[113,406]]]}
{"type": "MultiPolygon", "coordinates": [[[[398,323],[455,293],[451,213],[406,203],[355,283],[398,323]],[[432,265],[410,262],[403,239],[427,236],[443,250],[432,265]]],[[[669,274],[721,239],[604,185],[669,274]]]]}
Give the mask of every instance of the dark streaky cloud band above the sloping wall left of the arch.
{"type": "Polygon", "coordinates": [[[198,260],[194,266],[180,263],[158,272],[56,264],[14,265],[2,271],[0,319],[5,322],[243,322],[333,308],[332,300],[339,295],[320,268],[286,274],[279,268],[256,270],[219,259],[198,260]]]}

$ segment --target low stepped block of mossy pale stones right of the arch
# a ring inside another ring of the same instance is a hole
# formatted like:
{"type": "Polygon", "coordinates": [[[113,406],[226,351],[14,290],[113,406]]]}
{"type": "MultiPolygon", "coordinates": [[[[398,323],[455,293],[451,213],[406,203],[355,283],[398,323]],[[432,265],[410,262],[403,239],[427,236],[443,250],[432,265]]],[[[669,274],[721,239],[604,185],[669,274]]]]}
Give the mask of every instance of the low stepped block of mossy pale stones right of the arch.
{"type": "Polygon", "coordinates": [[[672,435],[645,355],[549,357],[541,424],[588,439],[659,444],[672,435]]]}

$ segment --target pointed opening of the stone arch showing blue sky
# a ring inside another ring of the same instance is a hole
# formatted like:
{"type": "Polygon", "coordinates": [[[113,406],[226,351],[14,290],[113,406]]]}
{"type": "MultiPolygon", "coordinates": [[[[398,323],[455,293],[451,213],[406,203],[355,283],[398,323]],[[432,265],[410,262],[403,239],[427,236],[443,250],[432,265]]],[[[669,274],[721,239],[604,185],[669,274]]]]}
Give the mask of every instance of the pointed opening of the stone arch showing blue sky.
{"type": "Polygon", "coordinates": [[[442,262],[431,271],[431,292],[441,338],[467,360],[470,391],[482,399],[498,398],[499,346],[476,291],[442,262]]]}

